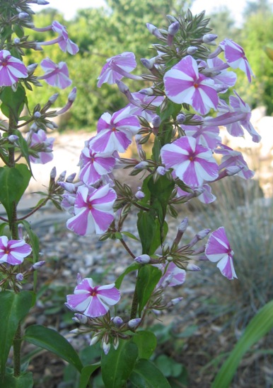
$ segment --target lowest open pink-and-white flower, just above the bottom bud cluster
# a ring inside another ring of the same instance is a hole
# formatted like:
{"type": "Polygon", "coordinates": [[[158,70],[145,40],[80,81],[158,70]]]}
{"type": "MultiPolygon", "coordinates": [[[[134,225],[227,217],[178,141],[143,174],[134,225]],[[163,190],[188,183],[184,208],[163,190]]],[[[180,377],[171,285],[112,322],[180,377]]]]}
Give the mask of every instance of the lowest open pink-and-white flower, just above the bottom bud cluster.
{"type": "Polygon", "coordinates": [[[120,291],[115,283],[108,286],[93,286],[92,278],[84,278],[76,286],[73,295],[67,295],[67,305],[86,317],[101,317],[109,311],[108,305],[116,305],[120,300],[120,291]]]}

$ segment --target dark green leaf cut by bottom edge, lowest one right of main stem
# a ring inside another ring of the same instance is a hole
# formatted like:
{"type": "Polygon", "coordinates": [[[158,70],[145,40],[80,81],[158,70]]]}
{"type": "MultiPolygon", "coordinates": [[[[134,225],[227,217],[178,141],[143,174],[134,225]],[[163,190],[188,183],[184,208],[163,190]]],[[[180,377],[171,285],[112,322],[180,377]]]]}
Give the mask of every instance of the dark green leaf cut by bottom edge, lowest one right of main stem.
{"type": "Polygon", "coordinates": [[[171,388],[161,370],[149,360],[140,359],[134,367],[134,372],[146,382],[147,388],[171,388]]]}

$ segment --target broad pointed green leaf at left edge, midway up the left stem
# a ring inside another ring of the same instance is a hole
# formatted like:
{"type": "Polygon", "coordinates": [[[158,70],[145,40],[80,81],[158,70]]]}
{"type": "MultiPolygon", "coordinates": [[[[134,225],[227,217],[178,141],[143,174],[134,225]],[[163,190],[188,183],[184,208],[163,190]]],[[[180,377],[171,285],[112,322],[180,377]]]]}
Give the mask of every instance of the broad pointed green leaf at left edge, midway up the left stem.
{"type": "Polygon", "coordinates": [[[13,203],[18,202],[28,187],[31,173],[26,165],[16,167],[0,167],[0,201],[6,209],[8,221],[11,223],[13,203]]]}

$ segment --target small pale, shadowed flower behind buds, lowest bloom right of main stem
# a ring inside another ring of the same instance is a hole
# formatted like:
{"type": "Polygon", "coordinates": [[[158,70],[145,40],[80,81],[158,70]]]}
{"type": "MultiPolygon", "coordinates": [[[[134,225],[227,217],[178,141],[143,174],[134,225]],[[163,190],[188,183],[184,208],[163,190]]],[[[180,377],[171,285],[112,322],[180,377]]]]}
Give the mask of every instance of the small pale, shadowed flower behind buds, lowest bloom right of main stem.
{"type": "MultiPolygon", "coordinates": [[[[155,265],[158,266],[158,265],[155,265]]],[[[160,281],[158,281],[157,288],[160,286],[181,286],[186,280],[186,271],[185,269],[180,269],[176,266],[173,261],[167,264],[162,264],[158,266],[161,269],[163,276],[160,281]]]]}

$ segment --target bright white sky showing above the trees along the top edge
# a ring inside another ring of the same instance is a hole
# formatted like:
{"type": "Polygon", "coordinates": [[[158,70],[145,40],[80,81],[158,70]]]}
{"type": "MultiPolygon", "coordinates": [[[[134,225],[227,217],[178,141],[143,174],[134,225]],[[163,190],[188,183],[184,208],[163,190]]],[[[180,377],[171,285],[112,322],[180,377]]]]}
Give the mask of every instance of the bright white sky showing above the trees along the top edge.
{"type": "MultiPolygon", "coordinates": [[[[98,7],[103,6],[103,0],[48,0],[50,1],[50,7],[57,8],[59,11],[64,13],[64,18],[66,20],[70,20],[73,18],[77,9],[81,8],[90,8],[90,7],[98,7]]],[[[211,13],[211,11],[215,11],[217,8],[221,6],[227,6],[231,9],[231,14],[236,19],[236,24],[240,25],[242,20],[241,14],[243,9],[245,8],[247,0],[195,0],[193,6],[191,8],[192,13],[199,13],[201,11],[207,11],[207,13],[211,13]],[[228,4],[227,4],[228,3],[228,4]]],[[[41,11],[43,8],[47,6],[37,6],[33,4],[33,11],[41,11]]]]}

